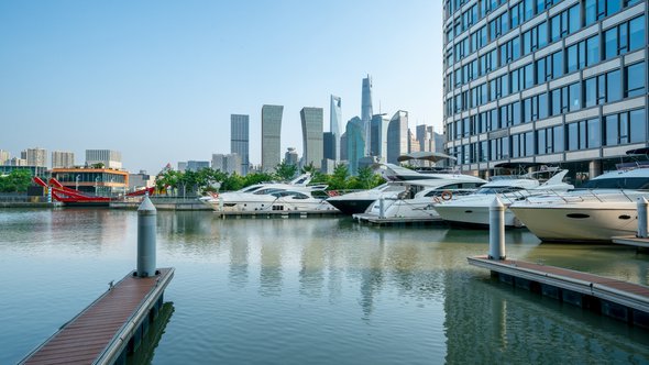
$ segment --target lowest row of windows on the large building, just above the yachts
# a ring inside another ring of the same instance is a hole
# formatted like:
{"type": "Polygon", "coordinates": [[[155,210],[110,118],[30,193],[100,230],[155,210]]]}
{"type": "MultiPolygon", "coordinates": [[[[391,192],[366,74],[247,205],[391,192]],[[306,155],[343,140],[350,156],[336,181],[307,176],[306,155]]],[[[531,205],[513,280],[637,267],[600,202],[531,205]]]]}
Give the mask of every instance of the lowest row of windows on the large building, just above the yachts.
{"type": "Polygon", "coordinates": [[[461,164],[529,157],[564,151],[598,148],[645,142],[645,109],[626,111],[451,147],[449,153],[461,164]]]}

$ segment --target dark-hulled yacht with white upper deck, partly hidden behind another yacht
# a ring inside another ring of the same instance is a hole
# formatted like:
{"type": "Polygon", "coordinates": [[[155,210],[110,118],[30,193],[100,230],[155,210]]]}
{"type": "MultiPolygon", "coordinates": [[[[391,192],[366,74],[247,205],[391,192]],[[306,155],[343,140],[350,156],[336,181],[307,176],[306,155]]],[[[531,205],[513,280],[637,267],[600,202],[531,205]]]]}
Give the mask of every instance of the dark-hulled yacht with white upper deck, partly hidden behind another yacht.
{"type": "MultiPolygon", "coordinates": [[[[350,192],[342,196],[331,197],[327,199],[329,203],[338,208],[342,213],[345,214],[358,214],[363,213],[367,208],[380,199],[397,199],[399,195],[407,193],[414,196],[422,189],[421,180],[442,180],[450,182],[473,181],[475,184],[486,182],[477,177],[461,175],[461,174],[447,174],[447,173],[418,173],[411,169],[407,169],[400,166],[392,164],[382,165],[382,174],[388,180],[381,186],[377,186],[370,190],[350,192]],[[408,189],[408,191],[406,191],[408,189]]],[[[430,182],[435,184],[435,182],[430,182]]]]}

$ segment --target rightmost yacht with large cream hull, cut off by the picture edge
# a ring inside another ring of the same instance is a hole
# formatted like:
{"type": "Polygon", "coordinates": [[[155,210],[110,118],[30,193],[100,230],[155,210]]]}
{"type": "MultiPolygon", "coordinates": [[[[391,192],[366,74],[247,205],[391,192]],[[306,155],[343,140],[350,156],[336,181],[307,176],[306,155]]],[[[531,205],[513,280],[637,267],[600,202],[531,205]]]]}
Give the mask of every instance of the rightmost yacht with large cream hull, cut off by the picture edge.
{"type": "Polygon", "coordinates": [[[509,209],[542,241],[610,242],[637,231],[641,197],[649,198],[649,167],[603,174],[582,189],[528,197],[509,209]]]}

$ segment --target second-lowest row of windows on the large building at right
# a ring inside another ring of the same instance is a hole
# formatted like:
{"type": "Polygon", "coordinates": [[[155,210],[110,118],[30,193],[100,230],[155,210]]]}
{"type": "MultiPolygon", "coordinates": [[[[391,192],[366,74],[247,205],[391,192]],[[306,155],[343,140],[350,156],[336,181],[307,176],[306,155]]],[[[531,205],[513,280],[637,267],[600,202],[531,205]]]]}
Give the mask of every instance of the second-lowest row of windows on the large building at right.
{"type": "Polygon", "coordinates": [[[449,123],[447,137],[458,140],[646,95],[646,64],[640,62],[625,67],[624,77],[615,69],[449,123]]]}

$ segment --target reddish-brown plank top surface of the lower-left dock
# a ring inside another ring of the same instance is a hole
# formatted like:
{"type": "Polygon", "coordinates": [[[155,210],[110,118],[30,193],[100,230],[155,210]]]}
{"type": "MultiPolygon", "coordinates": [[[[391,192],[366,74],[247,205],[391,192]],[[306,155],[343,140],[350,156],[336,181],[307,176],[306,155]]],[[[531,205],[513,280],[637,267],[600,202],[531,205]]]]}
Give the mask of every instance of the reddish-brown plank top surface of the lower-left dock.
{"type": "Polygon", "coordinates": [[[111,344],[123,325],[140,310],[160,283],[167,283],[173,268],[139,278],[127,275],[110,290],[59,329],[23,364],[90,364],[111,344]]]}

